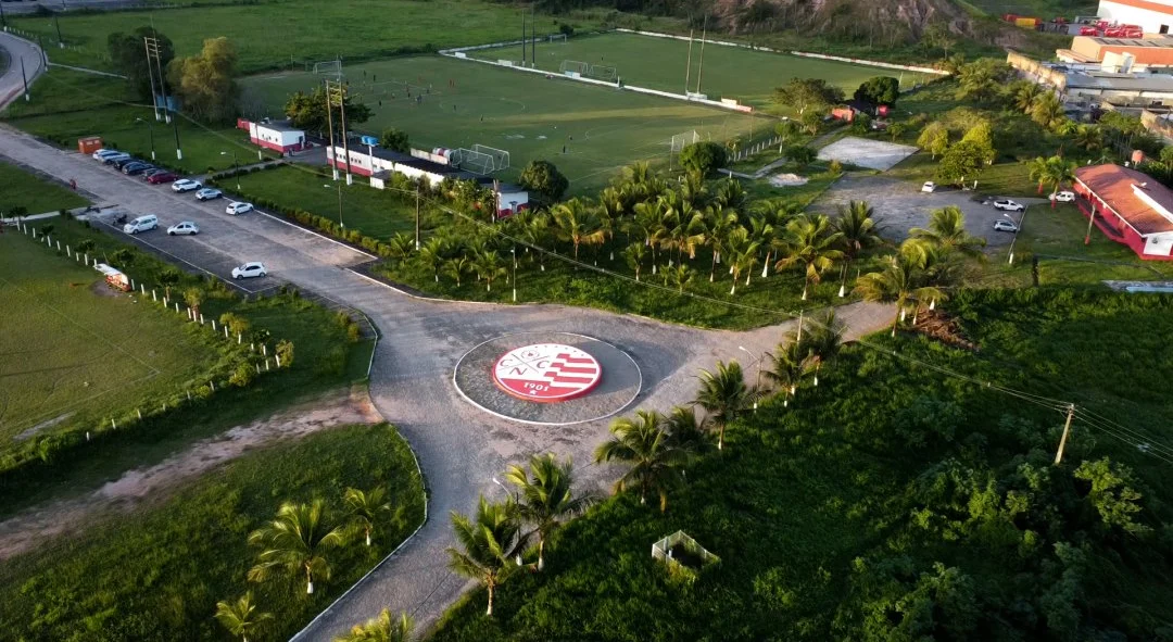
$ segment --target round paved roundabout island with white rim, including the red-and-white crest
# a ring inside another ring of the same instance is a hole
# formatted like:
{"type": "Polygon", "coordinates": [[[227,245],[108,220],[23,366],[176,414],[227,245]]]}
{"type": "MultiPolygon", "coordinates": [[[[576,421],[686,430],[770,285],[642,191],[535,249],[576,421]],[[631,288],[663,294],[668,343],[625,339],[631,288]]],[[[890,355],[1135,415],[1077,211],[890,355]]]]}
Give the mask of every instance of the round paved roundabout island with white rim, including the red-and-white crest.
{"type": "Polygon", "coordinates": [[[596,421],[628,407],[643,388],[635,359],[585,334],[522,332],[466,352],[456,391],[489,414],[544,426],[596,421]]]}

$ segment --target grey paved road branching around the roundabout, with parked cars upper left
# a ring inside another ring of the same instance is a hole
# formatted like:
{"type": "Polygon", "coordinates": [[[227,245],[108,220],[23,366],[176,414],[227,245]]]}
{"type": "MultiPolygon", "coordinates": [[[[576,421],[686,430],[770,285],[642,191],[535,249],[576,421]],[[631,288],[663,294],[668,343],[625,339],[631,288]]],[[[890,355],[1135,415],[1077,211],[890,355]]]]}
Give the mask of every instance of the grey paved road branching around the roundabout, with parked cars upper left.
{"type": "MultiPolygon", "coordinates": [[[[718,359],[745,359],[739,346],[761,353],[788,330],[703,331],[649,319],[562,305],[484,305],[434,302],[401,295],[348,268],[369,258],[300,228],[262,214],[228,216],[224,202],[197,203],[169,187],[147,185],[76,153],[62,151],[0,126],[0,149],[25,164],[61,177],[115,205],[128,216],[156,214],[164,223],[194,221],[196,237],[147,232],[133,237],[199,269],[223,275],[230,265],[263,261],[276,282],[289,282],[366,312],[382,333],[371,376],[375,406],[398,425],[419,458],[429,492],[429,519],[401,552],[357,584],[305,631],[303,641],[328,641],[382,608],[407,611],[432,623],[467,586],[447,568],[450,512],[470,512],[477,495],[497,496],[491,478],[530,453],[555,452],[577,462],[584,487],[604,487],[615,471],[592,464],[591,452],[606,435],[606,420],[567,427],[511,423],[462,400],[453,369],[470,347],[522,331],[579,332],[615,344],[643,371],[644,388],[629,406],[666,410],[689,401],[696,374],[718,359]]],[[[264,285],[264,284],[256,284],[264,285]]],[[[252,288],[250,283],[246,286],[252,288]]],[[[853,304],[840,310],[849,336],[890,322],[887,306],[853,304]]],[[[735,446],[735,440],[733,444],[735,446]]]]}

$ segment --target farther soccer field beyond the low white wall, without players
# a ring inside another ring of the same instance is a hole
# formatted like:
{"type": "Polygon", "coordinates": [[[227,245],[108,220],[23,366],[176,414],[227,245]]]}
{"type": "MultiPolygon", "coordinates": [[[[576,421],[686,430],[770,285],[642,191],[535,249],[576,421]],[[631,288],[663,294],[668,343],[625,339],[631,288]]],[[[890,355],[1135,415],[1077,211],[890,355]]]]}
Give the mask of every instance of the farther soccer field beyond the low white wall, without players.
{"type": "MultiPolygon", "coordinates": [[[[699,40],[699,33],[697,34],[699,40]]],[[[705,45],[704,69],[700,69],[700,42],[692,46],[692,70],[689,90],[700,92],[710,99],[737,99],[759,109],[775,110],[771,94],[792,77],[821,77],[836,85],[848,95],[861,82],[879,75],[901,76],[900,70],[865,67],[847,62],[800,58],[786,54],[754,52],[739,47],[705,45]]],[[[484,60],[521,61],[521,47],[503,47],[468,52],[469,56],[484,60]]],[[[527,56],[529,54],[527,53],[527,56]]],[[[575,36],[564,41],[537,42],[537,67],[558,73],[565,60],[615,67],[626,85],[684,93],[685,72],[689,67],[689,42],[647,35],[609,33],[575,36]]],[[[911,85],[921,74],[903,74],[904,85],[911,85]]]]}

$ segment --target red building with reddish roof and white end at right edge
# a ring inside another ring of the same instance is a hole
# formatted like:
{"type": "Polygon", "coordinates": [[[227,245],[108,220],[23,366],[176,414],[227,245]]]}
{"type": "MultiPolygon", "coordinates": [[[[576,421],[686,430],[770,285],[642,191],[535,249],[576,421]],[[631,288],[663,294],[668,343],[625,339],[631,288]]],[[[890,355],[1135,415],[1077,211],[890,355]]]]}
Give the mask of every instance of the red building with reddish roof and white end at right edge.
{"type": "Polygon", "coordinates": [[[1086,216],[1112,241],[1146,259],[1173,259],[1173,190],[1117,164],[1076,170],[1076,194],[1086,216]]]}

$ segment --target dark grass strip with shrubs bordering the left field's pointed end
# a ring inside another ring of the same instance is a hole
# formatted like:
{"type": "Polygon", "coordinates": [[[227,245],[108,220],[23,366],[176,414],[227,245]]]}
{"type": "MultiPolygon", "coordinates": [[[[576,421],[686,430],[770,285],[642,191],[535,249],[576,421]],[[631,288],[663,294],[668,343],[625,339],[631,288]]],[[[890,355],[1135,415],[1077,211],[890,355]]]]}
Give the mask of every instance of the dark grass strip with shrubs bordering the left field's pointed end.
{"type": "MultiPolygon", "coordinates": [[[[163,286],[160,284],[160,277],[174,268],[82,223],[54,219],[54,225],[56,228],[54,237],[60,238],[62,245],[76,246],[83,239],[95,242],[95,249],[90,252],[94,257],[108,261],[115,251],[130,248],[133,256],[130,265],[120,268],[137,283],[147,284],[162,296],[163,286]]],[[[5,243],[9,242],[33,245],[27,238],[14,237],[5,243]]],[[[34,249],[50,255],[47,249],[35,246],[34,249]]],[[[65,256],[54,258],[69,263],[65,256]]],[[[87,292],[89,284],[99,277],[97,272],[89,273],[91,276],[90,281],[86,282],[87,292]]],[[[54,426],[54,432],[38,434],[20,444],[22,448],[20,459],[23,464],[0,477],[0,515],[11,514],[55,496],[93,489],[127,469],[161,461],[195,440],[272,413],[307,396],[346,386],[366,377],[373,342],[353,340],[348,336],[348,329],[339,322],[334,312],[300,299],[293,293],[242,302],[223,284],[218,282],[208,284],[201,278],[188,275],[172,288],[172,296],[178,297],[190,288],[203,291],[201,311],[205,318],[219,318],[224,312],[244,317],[251,325],[250,333],[269,345],[270,354],[273,353],[277,342],[282,339],[292,342],[294,346],[292,366],[264,373],[246,387],[230,386],[217,377],[217,392],[208,401],[199,400],[197,394],[199,387],[208,383],[206,378],[188,377],[161,391],[155,391],[151,387],[155,384],[148,380],[135,388],[140,393],[140,401],[128,401],[124,407],[103,407],[104,419],[100,425],[82,423],[84,414],[76,415],[76,420],[70,417],[69,420],[54,426]],[[143,385],[147,387],[142,387],[143,385]],[[185,385],[189,387],[183,387],[185,385]],[[187,399],[187,391],[192,393],[190,403],[187,399]],[[149,392],[157,394],[147,394],[149,392]],[[163,403],[168,404],[165,412],[161,410],[163,403]],[[136,408],[142,410],[142,420],[137,419],[136,408]],[[209,408],[215,408],[215,412],[209,412],[209,408]],[[118,430],[110,428],[110,418],[116,419],[118,430]],[[93,441],[84,442],[82,435],[84,431],[93,433],[93,441]],[[39,461],[28,461],[30,455],[40,458],[39,461]]],[[[138,300],[137,305],[141,306],[157,305],[151,303],[149,295],[144,298],[135,297],[134,300],[138,300]]],[[[143,310],[138,313],[163,312],[143,310]]],[[[175,315],[175,318],[182,320],[184,317],[175,315]]],[[[84,320],[96,323],[94,319],[84,320]]],[[[40,330],[52,332],[52,327],[40,330]]],[[[194,329],[177,329],[177,331],[195,332],[194,329]]],[[[110,333],[120,339],[124,338],[128,350],[144,340],[158,342],[152,337],[128,337],[123,329],[110,330],[110,333]]],[[[126,385],[127,381],[120,384],[126,385]]]]}

